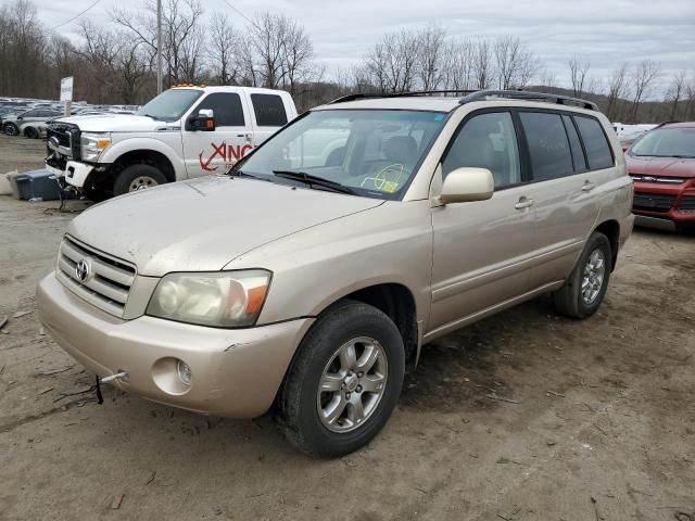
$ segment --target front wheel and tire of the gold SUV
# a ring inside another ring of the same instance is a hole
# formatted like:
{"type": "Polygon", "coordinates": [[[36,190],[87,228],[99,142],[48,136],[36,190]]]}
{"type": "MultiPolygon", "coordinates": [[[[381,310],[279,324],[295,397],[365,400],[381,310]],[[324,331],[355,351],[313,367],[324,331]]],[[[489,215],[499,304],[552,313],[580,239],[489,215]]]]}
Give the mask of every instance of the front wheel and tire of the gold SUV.
{"type": "Polygon", "coordinates": [[[321,314],[302,341],[280,390],[277,419],[286,437],[308,456],[352,453],[386,424],[404,374],[403,339],[393,321],[372,306],[342,301],[321,314]],[[345,366],[351,345],[356,360],[352,374],[345,366]],[[366,370],[359,371],[361,364],[366,370]],[[321,381],[334,389],[319,393],[321,381]],[[341,411],[332,423],[323,419],[331,410],[341,411]]]}

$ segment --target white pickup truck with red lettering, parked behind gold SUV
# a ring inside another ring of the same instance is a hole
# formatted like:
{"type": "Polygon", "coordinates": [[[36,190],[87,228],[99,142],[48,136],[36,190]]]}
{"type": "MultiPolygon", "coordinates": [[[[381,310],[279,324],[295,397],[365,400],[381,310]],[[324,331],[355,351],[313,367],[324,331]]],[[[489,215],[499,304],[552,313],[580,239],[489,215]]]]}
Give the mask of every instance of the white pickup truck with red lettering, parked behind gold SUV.
{"type": "Polygon", "coordinates": [[[175,87],[137,115],[54,120],[46,167],[94,201],[224,173],[296,117],[288,92],[252,87],[175,87]]]}

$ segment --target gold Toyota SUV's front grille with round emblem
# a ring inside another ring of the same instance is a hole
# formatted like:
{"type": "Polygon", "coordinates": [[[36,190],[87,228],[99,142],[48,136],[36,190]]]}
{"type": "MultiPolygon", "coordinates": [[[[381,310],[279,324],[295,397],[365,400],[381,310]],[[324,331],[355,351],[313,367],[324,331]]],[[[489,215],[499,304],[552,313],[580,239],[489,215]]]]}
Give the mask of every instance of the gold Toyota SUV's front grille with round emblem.
{"type": "Polygon", "coordinates": [[[65,238],[58,255],[58,279],[98,308],[123,317],[135,266],[65,238]],[[78,266],[79,265],[79,266],[78,266]],[[87,274],[85,269],[87,267],[87,274]]]}

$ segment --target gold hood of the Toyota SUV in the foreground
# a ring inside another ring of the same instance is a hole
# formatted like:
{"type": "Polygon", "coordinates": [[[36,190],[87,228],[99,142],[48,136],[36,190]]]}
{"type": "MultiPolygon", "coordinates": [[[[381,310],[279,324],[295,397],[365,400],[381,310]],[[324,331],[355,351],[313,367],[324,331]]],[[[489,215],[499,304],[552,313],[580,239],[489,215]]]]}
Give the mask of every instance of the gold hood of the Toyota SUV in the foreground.
{"type": "Polygon", "coordinates": [[[206,176],[98,204],[75,218],[67,233],[134,263],[138,275],[161,277],[217,271],[255,247],[381,204],[377,199],[206,176]]]}

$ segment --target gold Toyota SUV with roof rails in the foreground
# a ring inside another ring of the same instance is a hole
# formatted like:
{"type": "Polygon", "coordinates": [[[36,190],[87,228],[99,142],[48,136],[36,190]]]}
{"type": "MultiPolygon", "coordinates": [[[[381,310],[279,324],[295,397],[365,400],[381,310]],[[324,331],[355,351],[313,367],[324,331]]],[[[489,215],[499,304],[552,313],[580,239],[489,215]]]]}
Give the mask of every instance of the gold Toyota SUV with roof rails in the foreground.
{"type": "Polygon", "coordinates": [[[273,408],[311,455],[363,446],[424,344],[548,292],[589,317],[632,230],[593,103],[451,94],[345,97],[226,176],[93,206],[38,287],[42,323],[124,391],[273,408]]]}

